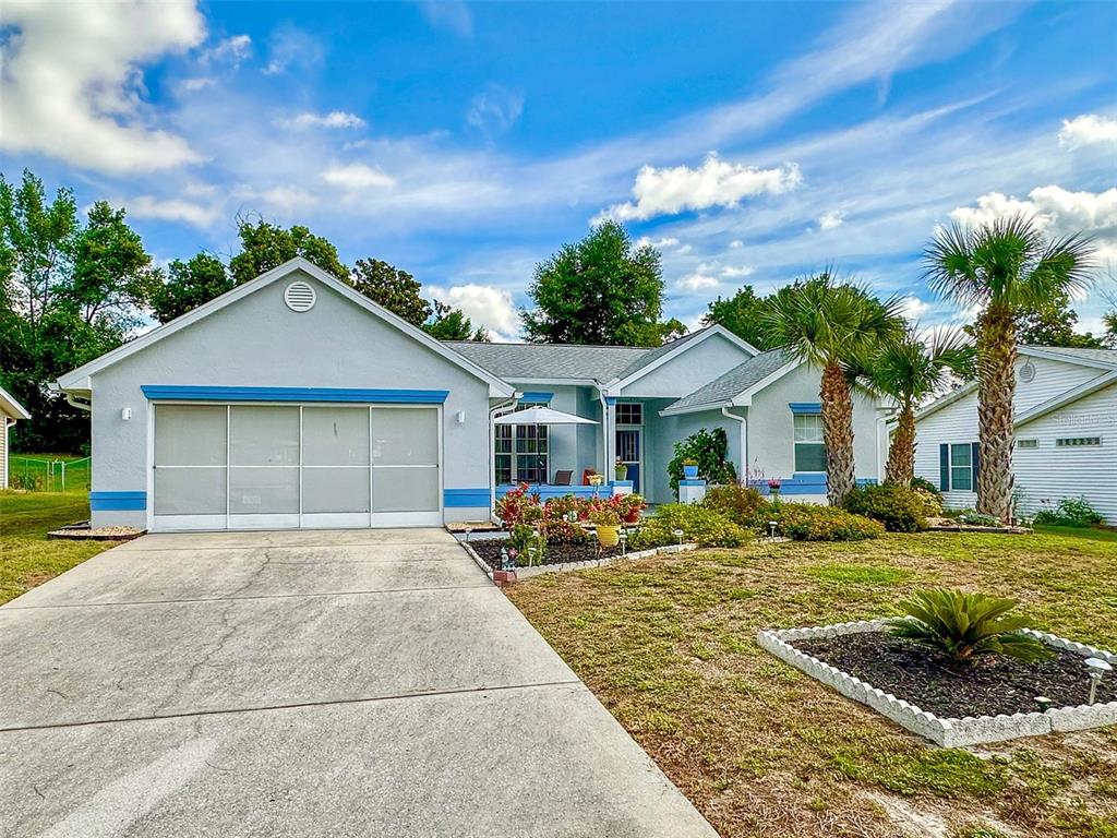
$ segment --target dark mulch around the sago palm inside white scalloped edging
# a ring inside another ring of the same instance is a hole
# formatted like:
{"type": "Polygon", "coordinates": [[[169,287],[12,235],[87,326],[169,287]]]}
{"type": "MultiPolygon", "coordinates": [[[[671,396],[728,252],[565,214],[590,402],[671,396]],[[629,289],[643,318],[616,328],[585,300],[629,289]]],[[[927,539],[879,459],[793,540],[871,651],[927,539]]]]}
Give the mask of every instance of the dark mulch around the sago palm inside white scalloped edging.
{"type": "MultiPolygon", "coordinates": [[[[871,686],[943,718],[1032,713],[1035,696],[1052,707],[1086,704],[1089,680],[1083,658],[1052,649],[1049,660],[1025,663],[990,656],[958,664],[914,640],[885,631],[796,640],[793,646],[871,686]]],[[[1117,701],[1117,673],[1098,685],[1099,703],[1117,701]]]]}

